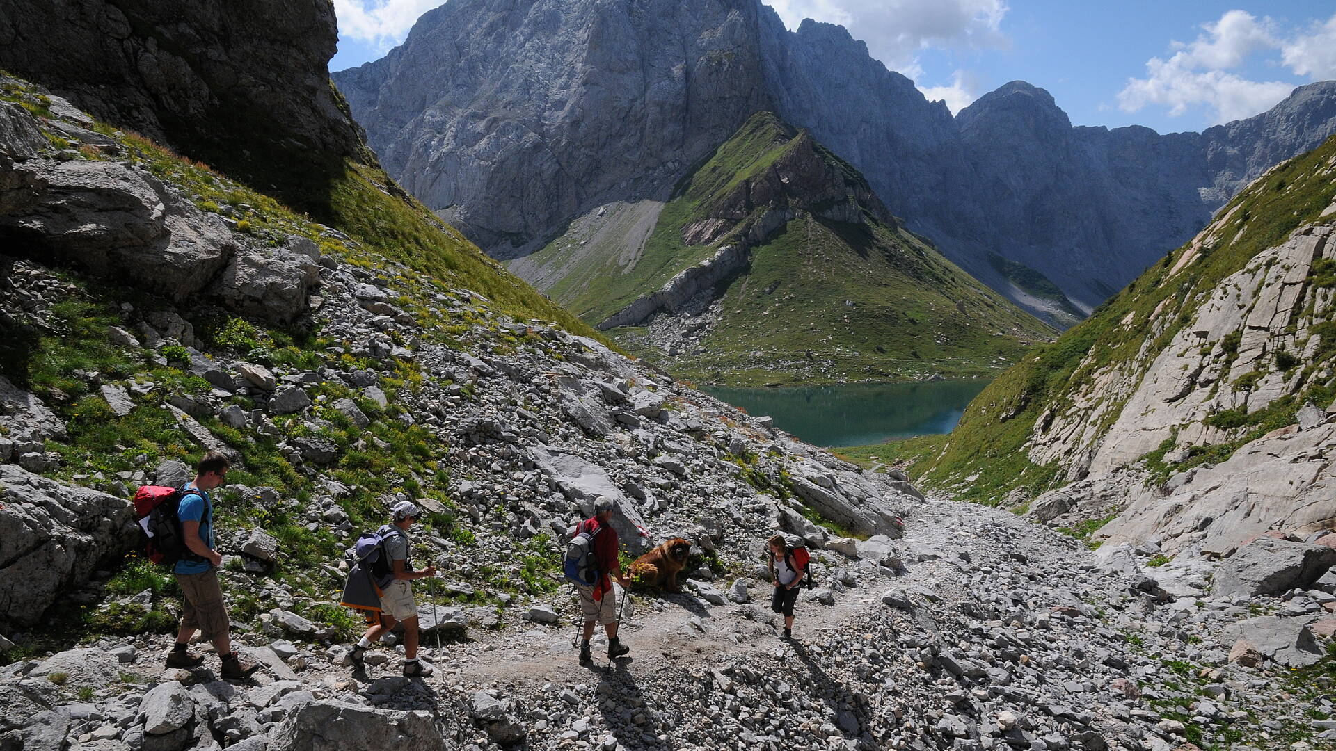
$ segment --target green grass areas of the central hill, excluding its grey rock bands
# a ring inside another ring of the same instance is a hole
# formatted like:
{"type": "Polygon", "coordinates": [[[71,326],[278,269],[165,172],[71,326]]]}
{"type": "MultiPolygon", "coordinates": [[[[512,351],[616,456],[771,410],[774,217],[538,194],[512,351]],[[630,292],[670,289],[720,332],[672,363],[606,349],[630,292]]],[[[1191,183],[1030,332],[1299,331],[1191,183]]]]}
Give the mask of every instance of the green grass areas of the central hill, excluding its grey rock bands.
{"type": "MultiPolygon", "coordinates": [[[[735,191],[800,148],[812,148],[848,184],[866,187],[856,170],[806,131],[756,114],[677,186],[635,266],[623,267],[613,254],[570,263],[580,249],[569,237],[540,251],[544,267],[569,263],[549,293],[591,322],[616,313],[745,231],[760,208],[713,243],[683,242],[684,227],[715,216],[721,203],[743,203],[735,191]]],[[[729,385],[981,378],[1014,362],[1026,349],[1022,339],[1054,334],[868,207],[864,223],[796,212],[751,249],[748,271],[717,290],[723,317],[703,342],[705,354],[672,358],[676,374],[729,385]]],[[[628,351],[661,358],[645,345],[643,329],[611,334],[628,351]]]]}

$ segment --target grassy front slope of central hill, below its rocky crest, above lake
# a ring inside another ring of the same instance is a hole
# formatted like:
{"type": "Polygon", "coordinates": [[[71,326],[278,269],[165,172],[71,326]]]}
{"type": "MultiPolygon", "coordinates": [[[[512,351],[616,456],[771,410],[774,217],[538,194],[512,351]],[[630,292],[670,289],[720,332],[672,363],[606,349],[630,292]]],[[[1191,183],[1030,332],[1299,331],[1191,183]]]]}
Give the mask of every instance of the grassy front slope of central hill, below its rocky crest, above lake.
{"type": "Polygon", "coordinates": [[[902,229],[804,215],[752,249],[708,354],[673,369],[740,385],[991,376],[1047,329],[902,229]]]}

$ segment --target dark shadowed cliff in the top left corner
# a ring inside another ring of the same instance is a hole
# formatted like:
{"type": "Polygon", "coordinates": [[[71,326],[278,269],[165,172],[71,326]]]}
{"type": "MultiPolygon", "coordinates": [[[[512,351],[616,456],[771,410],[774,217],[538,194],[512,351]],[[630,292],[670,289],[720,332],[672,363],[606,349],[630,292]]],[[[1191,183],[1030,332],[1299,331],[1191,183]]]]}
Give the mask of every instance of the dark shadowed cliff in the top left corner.
{"type": "Polygon", "coordinates": [[[329,82],[337,40],[329,0],[0,8],[0,67],[302,208],[322,167],[374,162],[329,82]]]}

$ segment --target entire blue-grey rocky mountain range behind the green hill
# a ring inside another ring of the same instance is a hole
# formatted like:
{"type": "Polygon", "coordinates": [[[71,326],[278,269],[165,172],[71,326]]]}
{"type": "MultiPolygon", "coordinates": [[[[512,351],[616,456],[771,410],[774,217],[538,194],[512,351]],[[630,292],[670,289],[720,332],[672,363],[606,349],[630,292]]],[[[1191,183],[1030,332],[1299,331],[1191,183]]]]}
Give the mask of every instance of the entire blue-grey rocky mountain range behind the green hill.
{"type": "Polygon", "coordinates": [[[1202,134],[1073,127],[1023,82],[953,118],[844,28],[790,32],[755,0],[457,0],[334,79],[390,174],[500,258],[596,206],[667,198],[767,108],[970,274],[1009,293],[998,254],[1086,310],[1336,131],[1336,84],[1202,134]]]}

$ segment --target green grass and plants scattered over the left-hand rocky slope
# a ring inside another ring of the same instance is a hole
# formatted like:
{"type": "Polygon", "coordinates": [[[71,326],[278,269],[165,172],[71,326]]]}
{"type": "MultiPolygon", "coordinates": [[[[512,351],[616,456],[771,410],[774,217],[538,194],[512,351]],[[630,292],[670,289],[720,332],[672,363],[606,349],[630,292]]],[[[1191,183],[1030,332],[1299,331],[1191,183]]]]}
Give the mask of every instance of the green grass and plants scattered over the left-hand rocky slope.
{"type": "MultiPolygon", "coordinates": [[[[48,118],[40,95],[17,80],[7,80],[0,99],[23,104],[35,115],[48,118]]],[[[436,222],[415,202],[395,195],[383,174],[362,164],[349,163],[347,172],[330,196],[337,212],[350,216],[338,230],[355,242],[345,242],[338,233],[311,222],[282,203],[230,180],[207,166],[179,156],[171,150],[135,134],[126,134],[104,123],[98,132],[118,142],[115,159],[138,164],[164,182],[170,182],[204,211],[235,220],[234,229],[259,242],[279,243],[289,234],[299,234],[319,243],[325,254],[341,258],[373,277],[391,282],[399,293],[393,302],[418,322],[424,342],[438,342],[468,349],[486,329],[486,342],[493,347],[525,346],[537,334],[516,333],[506,326],[510,317],[541,317],[566,325],[568,329],[592,335],[593,331],[550,301],[544,299],[524,282],[500,271],[476,247],[457,233],[436,222]],[[466,289],[490,299],[460,303],[465,294],[448,295],[456,305],[442,306],[437,299],[450,289],[466,289]],[[509,315],[496,315],[504,311],[509,315]]],[[[106,152],[71,144],[43,127],[53,150],[65,150],[69,159],[103,160],[106,152]]],[[[8,270],[7,270],[8,271],[8,270]]],[[[167,409],[168,398],[212,398],[216,406],[238,406],[250,412],[255,402],[240,394],[219,397],[214,386],[190,370],[190,353],[178,343],[160,349],[114,345],[108,327],[134,329],[134,322],[152,311],[179,313],[194,325],[198,349],[206,358],[236,358],[283,371],[363,371],[374,374],[375,385],[389,404],[381,405],[339,378],[322,378],[305,388],[315,405],[306,414],[273,414],[263,430],[253,422],[244,429],[230,428],[212,414],[198,418],[214,438],[240,454],[240,464],[228,474],[228,486],[218,494],[216,516],[223,529],[240,532],[261,528],[275,536],[285,557],[265,575],[301,597],[327,603],[337,596],[341,583],[322,571],[321,564],[339,560],[347,540],[330,533],[330,524],[314,524],[307,505],[318,496],[317,482],[331,480],[347,488],[337,505],[355,528],[379,525],[385,516],[385,498],[407,493],[440,504],[424,522],[432,535],[461,547],[476,545],[470,531],[474,522],[446,494],[450,481],[438,457],[448,453],[437,430],[414,422],[399,406],[420,390],[426,378],[413,361],[373,361],[351,354],[362,342],[350,342],[322,333],[322,321],[310,327],[271,327],[235,317],[208,303],[172,309],[143,290],[118,286],[115,279],[95,279],[67,271],[41,269],[57,285],[59,298],[47,301],[36,313],[0,310],[0,376],[40,397],[67,422],[67,434],[51,440],[45,452],[59,457],[59,466],[47,474],[128,497],[134,485],[164,460],[190,462],[202,453],[200,446],[167,409]],[[99,393],[102,385],[119,385],[134,394],[134,409],[118,416],[99,393]],[[367,418],[358,426],[334,408],[351,400],[367,418]],[[322,466],[290,461],[283,445],[311,438],[333,446],[334,458],[322,466]],[[270,490],[271,489],[271,490],[270,490]]],[[[55,287],[52,287],[55,289],[55,287]]],[[[403,342],[397,342],[403,343],[403,342]]],[[[449,381],[440,381],[449,385],[449,381]]],[[[464,388],[461,398],[470,398],[464,388]]],[[[533,405],[529,405],[533,406],[533,405]]],[[[536,409],[536,408],[534,408],[536,409]]],[[[4,429],[0,428],[0,433],[4,429]]],[[[485,514],[484,524],[498,524],[508,513],[504,505],[485,514]]],[[[497,603],[496,595],[514,591],[517,581],[529,589],[553,587],[549,573],[553,551],[550,540],[536,537],[521,547],[524,555],[505,565],[480,565],[473,580],[481,593],[466,601],[497,603]]],[[[111,563],[111,561],[108,561],[111,563]]],[[[238,561],[239,563],[239,561],[238,561]]],[[[91,640],[103,633],[140,633],[168,631],[175,617],[167,611],[175,592],[170,576],[130,555],[111,565],[112,577],[106,592],[116,596],[150,591],[147,607],[106,603],[86,607],[63,600],[52,608],[44,639],[33,649],[91,640]]],[[[257,596],[261,576],[227,577],[234,617],[253,621],[271,605],[257,596]]],[[[294,605],[299,608],[299,605],[294,605]]],[[[347,631],[349,613],[333,605],[317,605],[299,612],[317,624],[347,631]]],[[[345,633],[346,636],[346,633],[345,633]]],[[[0,661],[16,659],[17,652],[0,655],[0,661]]]]}

